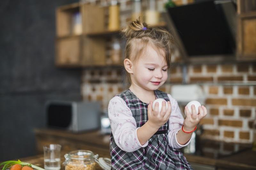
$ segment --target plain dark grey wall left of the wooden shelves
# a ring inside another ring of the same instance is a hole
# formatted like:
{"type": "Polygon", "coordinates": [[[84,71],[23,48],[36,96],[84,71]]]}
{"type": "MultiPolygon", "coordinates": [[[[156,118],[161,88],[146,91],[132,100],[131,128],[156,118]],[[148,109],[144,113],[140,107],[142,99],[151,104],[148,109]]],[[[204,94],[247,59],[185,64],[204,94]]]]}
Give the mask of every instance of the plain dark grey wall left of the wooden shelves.
{"type": "Polygon", "coordinates": [[[74,2],[0,1],[0,160],[36,154],[47,100],[81,99],[81,70],[54,65],[55,8],[74,2]]]}

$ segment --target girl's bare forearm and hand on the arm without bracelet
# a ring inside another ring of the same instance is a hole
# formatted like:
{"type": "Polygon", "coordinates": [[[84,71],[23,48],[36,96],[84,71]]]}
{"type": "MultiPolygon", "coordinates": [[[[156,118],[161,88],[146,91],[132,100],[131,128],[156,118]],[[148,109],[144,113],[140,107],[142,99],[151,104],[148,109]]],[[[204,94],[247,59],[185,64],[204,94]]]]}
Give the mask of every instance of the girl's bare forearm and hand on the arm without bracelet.
{"type": "Polygon", "coordinates": [[[152,137],[156,131],[169,120],[171,115],[171,103],[168,103],[166,110],[165,101],[162,103],[162,111],[158,113],[158,102],[156,102],[154,110],[152,109],[153,102],[148,104],[148,121],[137,130],[137,136],[140,144],[145,144],[150,137],[152,137]]]}

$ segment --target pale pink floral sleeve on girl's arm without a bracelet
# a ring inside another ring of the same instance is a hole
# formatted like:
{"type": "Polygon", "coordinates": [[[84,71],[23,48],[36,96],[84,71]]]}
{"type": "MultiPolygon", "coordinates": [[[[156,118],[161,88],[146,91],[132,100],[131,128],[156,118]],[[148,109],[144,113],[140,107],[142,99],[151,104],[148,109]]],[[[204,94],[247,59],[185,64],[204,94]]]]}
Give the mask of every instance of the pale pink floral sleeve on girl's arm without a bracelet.
{"type": "Polygon", "coordinates": [[[141,145],[137,137],[137,125],[130,108],[119,97],[113,97],[108,103],[108,118],[117,146],[125,152],[133,152],[148,145],[141,145]]]}

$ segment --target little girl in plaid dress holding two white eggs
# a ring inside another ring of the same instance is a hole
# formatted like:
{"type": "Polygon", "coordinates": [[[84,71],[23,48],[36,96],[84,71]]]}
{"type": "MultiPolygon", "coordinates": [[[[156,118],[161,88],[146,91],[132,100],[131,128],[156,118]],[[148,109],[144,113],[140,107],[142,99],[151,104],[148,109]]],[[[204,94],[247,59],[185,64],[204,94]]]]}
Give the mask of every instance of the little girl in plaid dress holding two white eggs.
{"type": "Polygon", "coordinates": [[[110,153],[113,169],[192,169],[178,150],[188,145],[196,125],[207,114],[204,106],[196,114],[186,109],[184,120],[177,101],[157,90],[167,79],[172,35],[161,28],[148,28],[140,19],[124,29],[127,37],[124,68],[129,89],[109,101],[110,153]],[[152,108],[153,101],[163,98],[152,108]],[[190,114],[189,114],[190,113],[190,114]]]}

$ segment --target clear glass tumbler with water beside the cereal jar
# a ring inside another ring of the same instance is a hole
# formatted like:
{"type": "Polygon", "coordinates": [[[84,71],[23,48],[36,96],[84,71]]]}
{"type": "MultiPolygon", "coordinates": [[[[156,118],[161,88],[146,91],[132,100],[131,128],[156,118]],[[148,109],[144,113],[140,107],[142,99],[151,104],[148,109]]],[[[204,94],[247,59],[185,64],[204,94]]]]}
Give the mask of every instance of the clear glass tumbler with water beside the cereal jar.
{"type": "Polygon", "coordinates": [[[60,170],[60,144],[49,144],[44,148],[44,169],[60,170]]]}

